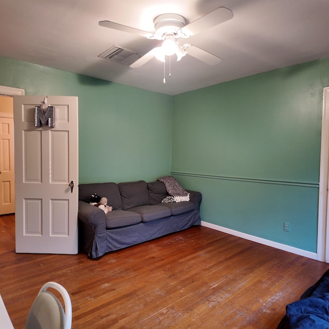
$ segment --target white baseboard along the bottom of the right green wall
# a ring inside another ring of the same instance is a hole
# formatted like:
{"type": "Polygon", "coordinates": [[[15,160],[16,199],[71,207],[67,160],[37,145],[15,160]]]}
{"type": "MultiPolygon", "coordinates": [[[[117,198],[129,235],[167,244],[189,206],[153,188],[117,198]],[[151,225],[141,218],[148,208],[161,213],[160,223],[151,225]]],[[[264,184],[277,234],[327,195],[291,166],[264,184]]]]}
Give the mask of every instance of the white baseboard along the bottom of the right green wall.
{"type": "Polygon", "coordinates": [[[265,245],[265,246],[277,248],[277,249],[280,249],[280,250],[288,251],[288,252],[295,253],[295,254],[300,255],[300,256],[304,256],[304,257],[307,257],[307,258],[310,258],[310,259],[317,260],[317,254],[315,252],[310,252],[310,251],[306,251],[306,250],[303,250],[303,249],[298,249],[298,248],[295,248],[295,247],[287,246],[287,245],[284,245],[282,243],[273,242],[273,241],[270,241],[270,240],[263,239],[262,237],[242,233],[242,232],[239,232],[239,231],[235,231],[235,230],[223,227],[223,226],[218,226],[218,225],[207,223],[207,222],[204,222],[204,221],[201,221],[201,225],[205,226],[205,227],[212,228],[216,231],[228,233],[228,234],[231,234],[231,235],[234,235],[234,236],[239,236],[239,237],[242,237],[242,239],[257,242],[257,243],[260,243],[260,244],[265,245]]]}

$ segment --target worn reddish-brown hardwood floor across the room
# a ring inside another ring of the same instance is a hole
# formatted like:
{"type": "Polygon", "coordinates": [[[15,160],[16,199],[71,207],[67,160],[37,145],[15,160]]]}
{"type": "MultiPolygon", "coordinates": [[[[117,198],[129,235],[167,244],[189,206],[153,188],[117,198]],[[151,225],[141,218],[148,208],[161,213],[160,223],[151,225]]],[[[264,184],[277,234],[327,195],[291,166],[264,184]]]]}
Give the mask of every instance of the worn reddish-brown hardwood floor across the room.
{"type": "Polygon", "coordinates": [[[15,329],[25,327],[43,283],[69,292],[72,328],[275,329],[329,264],[206,227],[89,260],[16,254],[14,222],[0,217],[0,294],[15,329]]]}

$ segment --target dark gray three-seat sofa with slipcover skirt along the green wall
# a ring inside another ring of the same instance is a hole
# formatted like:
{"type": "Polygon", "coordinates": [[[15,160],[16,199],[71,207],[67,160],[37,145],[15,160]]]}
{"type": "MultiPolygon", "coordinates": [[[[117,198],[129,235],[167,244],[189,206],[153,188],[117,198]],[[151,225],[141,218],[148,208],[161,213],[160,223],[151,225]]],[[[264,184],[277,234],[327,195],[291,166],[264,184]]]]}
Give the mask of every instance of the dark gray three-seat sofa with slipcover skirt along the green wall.
{"type": "Polygon", "coordinates": [[[190,201],[161,203],[168,196],[161,181],[114,182],[79,185],[79,246],[98,258],[165,234],[200,225],[200,192],[189,191],[190,201]],[[94,193],[113,207],[107,214],[89,204],[94,193]]]}

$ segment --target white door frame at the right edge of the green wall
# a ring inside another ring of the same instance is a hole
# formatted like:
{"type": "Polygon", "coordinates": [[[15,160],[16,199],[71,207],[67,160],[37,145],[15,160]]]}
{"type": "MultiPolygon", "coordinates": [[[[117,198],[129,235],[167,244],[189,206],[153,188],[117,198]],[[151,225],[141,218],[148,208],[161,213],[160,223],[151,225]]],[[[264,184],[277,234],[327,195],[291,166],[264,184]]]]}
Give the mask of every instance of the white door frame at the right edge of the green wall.
{"type": "Polygon", "coordinates": [[[329,87],[323,88],[317,260],[329,263],[329,87]]]}

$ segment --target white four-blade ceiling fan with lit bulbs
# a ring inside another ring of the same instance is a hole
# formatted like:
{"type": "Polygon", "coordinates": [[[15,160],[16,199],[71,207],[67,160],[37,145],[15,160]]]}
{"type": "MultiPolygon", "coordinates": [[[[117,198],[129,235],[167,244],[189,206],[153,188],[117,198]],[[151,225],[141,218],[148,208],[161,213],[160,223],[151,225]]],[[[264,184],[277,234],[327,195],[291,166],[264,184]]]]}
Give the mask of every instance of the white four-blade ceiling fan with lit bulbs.
{"type": "Polygon", "coordinates": [[[153,48],[136,62],[131,64],[130,67],[140,67],[150,61],[153,57],[165,62],[165,56],[172,56],[173,54],[176,54],[177,61],[179,61],[187,53],[200,61],[210,65],[215,65],[222,59],[192,44],[185,43],[181,45],[178,42],[178,39],[190,38],[190,36],[226,22],[232,19],[232,17],[233,14],[231,10],[219,7],[186,25],[186,20],[181,15],[174,13],[162,14],[157,16],[154,20],[154,33],[109,21],[101,21],[99,22],[99,25],[145,36],[148,39],[163,40],[161,47],[153,48]]]}

